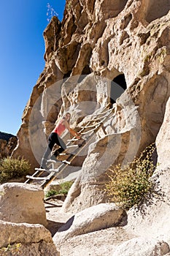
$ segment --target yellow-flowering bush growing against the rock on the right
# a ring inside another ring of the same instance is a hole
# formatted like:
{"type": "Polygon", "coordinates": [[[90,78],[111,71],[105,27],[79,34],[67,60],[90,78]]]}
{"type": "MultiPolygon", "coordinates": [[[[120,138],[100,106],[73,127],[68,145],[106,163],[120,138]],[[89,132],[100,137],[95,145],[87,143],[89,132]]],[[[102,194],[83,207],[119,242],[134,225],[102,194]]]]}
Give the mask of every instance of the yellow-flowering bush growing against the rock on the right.
{"type": "Polygon", "coordinates": [[[155,195],[161,196],[158,182],[151,178],[155,170],[152,162],[154,150],[155,146],[151,144],[130,164],[123,168],[120,165],[109,168],[110,181],[106,184],[105,191],[112,202],[125,210],[135,206],[136,209],[144,211],[144,204],[148,206],[155,195]]]}

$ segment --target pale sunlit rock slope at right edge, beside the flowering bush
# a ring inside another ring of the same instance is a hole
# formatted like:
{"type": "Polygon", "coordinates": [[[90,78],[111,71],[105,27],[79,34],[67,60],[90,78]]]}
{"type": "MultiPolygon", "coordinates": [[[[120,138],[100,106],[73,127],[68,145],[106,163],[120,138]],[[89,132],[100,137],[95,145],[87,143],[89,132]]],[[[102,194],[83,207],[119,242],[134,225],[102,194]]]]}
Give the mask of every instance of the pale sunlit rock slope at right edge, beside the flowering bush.
{"type": "Polygon", "coordinates": [[[128,212],[128,230],[140,236],[152,238],[162,238],[164,241],[170,241],[170,219],[169,219],[169,115],[170,100],[166,104],[166,113],[163,124],[156,138],[156,146],[158,152],[158,167],[153,176],[158,175],[159,189],[163,192],[164,197],[155,198],[154,204],[146,208],[144,216],[137,214],[134,218],[134,209],[128,212]]]}

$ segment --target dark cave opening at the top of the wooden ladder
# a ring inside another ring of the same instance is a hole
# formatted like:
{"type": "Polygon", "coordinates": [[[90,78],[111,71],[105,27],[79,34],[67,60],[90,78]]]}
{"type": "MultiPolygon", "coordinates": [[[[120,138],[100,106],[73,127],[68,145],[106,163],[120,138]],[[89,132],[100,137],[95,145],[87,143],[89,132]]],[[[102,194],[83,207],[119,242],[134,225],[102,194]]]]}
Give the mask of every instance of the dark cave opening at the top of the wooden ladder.
{"type": "Polygon", "coordinates": [[[120,97],[121,94],[127,89],[127,84],[125,82],[125,75],[120,74],[117,75],[111,82],[110,89],[110,103],[114,104],[116,99],[120,97]]]}

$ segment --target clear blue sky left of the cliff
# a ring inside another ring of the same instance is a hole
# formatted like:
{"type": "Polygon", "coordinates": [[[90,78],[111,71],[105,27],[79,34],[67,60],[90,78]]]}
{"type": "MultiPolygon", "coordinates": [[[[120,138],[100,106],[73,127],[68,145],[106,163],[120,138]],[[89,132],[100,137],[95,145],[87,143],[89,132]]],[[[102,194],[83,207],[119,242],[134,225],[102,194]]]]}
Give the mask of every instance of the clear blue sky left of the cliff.
{"type": "Polygon", "coordinates": [[[45,67],[47,3],[63,18],[65,0],[1,1],[0,132],[16,135],[36,80],[45,67]]]}

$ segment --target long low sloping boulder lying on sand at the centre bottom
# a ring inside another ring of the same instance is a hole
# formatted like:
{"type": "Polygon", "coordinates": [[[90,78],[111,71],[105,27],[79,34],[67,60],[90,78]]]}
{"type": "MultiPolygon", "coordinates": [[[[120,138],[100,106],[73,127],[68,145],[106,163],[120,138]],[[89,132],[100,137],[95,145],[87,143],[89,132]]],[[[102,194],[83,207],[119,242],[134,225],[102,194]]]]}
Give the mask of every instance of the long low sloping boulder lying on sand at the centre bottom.
{"type": "Polygon", "coordinates": [[[75,214],[65,225],[58,229],[53,241],[57,245],[73,236],[124,225],[125,223],[126,213],[123,209],[115,206],[115,203],[101,203],[75,214]]]}

